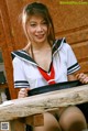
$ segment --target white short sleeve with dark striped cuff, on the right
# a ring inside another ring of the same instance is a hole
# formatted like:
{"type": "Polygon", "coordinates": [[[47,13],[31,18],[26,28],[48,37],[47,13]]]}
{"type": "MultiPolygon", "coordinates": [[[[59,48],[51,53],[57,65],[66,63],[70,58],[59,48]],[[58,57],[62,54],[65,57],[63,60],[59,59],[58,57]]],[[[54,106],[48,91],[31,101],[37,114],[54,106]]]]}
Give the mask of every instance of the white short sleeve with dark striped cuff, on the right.
{"type": "Polygon", "coordinates": [[[67,44],[67,74],[73,74],[80,68],[76,55],[70,45],[67,44]]]}

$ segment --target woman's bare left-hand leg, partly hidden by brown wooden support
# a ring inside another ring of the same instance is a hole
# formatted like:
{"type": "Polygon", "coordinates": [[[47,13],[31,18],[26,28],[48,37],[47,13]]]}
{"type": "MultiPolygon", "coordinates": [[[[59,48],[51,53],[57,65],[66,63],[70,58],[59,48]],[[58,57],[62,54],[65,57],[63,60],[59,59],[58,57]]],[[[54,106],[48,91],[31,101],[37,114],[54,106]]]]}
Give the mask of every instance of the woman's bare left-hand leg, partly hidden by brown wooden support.
{"type": "Polygon", "coordinates": [[[61,131],[58,121],[52,113],[44,113],[44,125],[35,127],[33,131],[61,131]]]}

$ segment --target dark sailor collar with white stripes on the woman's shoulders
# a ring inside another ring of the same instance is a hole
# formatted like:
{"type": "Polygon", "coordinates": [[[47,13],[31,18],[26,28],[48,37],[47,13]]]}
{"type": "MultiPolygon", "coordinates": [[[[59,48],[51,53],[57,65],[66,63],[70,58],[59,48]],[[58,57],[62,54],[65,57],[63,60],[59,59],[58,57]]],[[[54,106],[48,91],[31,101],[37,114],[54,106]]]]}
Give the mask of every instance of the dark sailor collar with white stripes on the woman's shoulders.
{"type": "MultiPolygon", "coordinates": [[[[63,37],[61,40],[55,40],[55,42],[53,44],[53,50],[52,50],[53,57],[62,48],[62,46],[63,46],[64,43],[66,43],[65,37],[63,37]]],[[[25,51],[23,51],[23,50],[11,52],[11,56],[12,56],[12,59],[14,57],[18,57],[18,58],[23,59],[25,62],[30,62],[30,63],[32,63],[34,65],[37,65],[34,62],[34,59],[25,51]]]]}

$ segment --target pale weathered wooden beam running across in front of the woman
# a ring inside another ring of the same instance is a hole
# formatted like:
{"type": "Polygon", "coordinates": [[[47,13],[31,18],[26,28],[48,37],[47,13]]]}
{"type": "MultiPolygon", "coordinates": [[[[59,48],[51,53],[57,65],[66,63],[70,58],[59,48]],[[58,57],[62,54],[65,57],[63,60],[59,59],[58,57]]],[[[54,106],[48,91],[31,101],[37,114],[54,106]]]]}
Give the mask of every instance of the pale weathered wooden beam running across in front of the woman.
{"type": "Polygon", "coordinates": [[[88,101],[88,85],[9,101],[0,106],[0,121],[28,117],[88,101]]]}

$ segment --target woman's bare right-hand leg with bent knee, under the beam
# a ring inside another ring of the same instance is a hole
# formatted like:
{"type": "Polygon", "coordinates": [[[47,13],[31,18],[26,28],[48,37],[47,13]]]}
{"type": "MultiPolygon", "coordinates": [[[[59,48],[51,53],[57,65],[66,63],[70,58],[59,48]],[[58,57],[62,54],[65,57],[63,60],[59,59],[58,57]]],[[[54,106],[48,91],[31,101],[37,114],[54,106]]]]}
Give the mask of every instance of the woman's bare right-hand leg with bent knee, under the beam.
{"type": "Polygon", "coordinates": [[[68,107],[59,118],[62,131],[81,131],[87,129],[86,119],[77,107],[68,107]]]}

